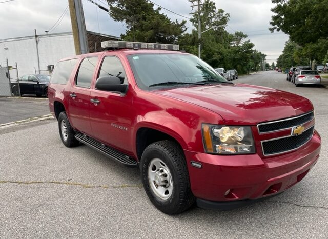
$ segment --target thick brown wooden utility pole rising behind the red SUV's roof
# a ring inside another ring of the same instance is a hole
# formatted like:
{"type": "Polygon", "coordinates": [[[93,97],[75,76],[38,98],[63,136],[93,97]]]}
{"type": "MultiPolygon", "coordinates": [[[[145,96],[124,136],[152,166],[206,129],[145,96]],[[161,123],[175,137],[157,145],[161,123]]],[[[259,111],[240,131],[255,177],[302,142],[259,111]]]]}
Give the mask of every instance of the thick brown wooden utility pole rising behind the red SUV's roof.
{"type": "Polygon", "coordinates": [[[89,53],[86,23],[81,0],[68,0],[76,55],[89,53]]]}

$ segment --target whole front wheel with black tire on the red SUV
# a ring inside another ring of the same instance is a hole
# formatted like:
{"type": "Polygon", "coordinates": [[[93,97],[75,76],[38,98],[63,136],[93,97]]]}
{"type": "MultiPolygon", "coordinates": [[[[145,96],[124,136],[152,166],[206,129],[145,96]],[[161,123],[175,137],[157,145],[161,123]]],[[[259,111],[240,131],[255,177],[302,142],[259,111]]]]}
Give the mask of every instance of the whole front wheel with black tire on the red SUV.
{"type": "Polygon", "coordinates": [[[154,206],[166,214],[181,213],[195,202],[182,149],[172,141],[150,144],[142,153],[141,180],[154,206]]]}

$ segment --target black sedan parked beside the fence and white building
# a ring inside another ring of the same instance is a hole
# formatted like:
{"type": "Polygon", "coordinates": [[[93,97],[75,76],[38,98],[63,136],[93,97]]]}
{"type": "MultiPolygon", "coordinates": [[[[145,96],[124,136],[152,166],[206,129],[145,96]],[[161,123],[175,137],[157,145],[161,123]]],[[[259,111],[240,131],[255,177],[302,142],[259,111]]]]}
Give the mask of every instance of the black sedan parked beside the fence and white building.
{"type": "MultiPolygon", "coordinates": [[[[20,95],[34,94],[48,97],[49,75],[23,75],[19,78],[20,95]]],[[[17,83],[12,83],[12,91],[18,92],[17,83]]]]}

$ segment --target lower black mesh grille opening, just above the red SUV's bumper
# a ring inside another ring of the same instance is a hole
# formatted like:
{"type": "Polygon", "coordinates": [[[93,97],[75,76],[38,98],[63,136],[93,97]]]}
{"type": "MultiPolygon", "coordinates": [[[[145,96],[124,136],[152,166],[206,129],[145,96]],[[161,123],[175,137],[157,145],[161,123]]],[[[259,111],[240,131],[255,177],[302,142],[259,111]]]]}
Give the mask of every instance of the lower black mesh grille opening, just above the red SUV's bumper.
{"type": "Polygon", "coordinates": [[[276,140],[262,141],[262,150],[264,156],[288,152],[297,149],[311,140],[314,132],[314,126],[307,129],[300,135],[287,136],[276,140]]]}

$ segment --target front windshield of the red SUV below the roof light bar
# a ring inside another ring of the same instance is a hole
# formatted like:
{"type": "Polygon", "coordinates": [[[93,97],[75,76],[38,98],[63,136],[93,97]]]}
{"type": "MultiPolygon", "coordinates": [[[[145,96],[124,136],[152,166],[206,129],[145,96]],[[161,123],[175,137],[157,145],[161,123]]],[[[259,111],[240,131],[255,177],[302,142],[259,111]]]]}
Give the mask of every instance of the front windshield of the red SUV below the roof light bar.
{"type": "Polygon", "coordinates": [[[228,83],[210,65],[187,54],[133,54],[128,56],[138,86],[144,90],[228,83]]]}

